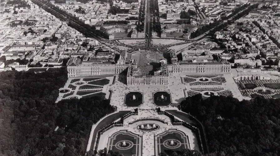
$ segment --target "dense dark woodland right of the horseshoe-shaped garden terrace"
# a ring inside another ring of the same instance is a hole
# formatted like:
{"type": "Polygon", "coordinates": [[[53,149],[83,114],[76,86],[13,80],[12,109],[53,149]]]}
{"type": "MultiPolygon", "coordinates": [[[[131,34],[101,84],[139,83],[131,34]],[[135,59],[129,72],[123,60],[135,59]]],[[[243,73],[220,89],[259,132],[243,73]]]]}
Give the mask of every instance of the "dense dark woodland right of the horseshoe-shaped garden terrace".
{"type": "Polygon", "coordinates": [[[198,94],[187,97],[180,108],[196,115],[204,124],[210,155],[277,155],[280,141],[274,138],[280,138],[276,132],[280,127],[274,124],[279,123],[279,104],[280,99],[262,97],[238,101],[233,97],[211,96],[203,100],[198,94]]]}

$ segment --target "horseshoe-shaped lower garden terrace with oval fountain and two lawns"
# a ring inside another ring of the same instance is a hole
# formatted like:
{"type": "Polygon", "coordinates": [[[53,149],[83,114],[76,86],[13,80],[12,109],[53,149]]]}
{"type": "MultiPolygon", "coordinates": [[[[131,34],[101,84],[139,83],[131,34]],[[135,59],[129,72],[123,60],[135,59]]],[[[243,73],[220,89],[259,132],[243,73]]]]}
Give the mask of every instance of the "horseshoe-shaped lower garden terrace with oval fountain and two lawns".
{"type": "MultiPolygon", "coordinates": [[[[116,116],[117,113],[112,113],[103,120],[116,116]]],[[[172,113],[176,116],[156,110],[139,109],[129,112],[104,128],[99,128],[96,137],[91,133],[93,137],[90,137],[92,140],[87,149],[98,151],[106,147],[124,156],[165,156],[182,149],[203,151],[205,147],[199,144],[204,137],[200,135],[203,134],[199,128],[200,123],[192,119],[192,124],[189,124],[187,121],[191,116],[188,114],[181,112],[184,117],[180,119],[180,112],[173,110],[172,113]]]]}

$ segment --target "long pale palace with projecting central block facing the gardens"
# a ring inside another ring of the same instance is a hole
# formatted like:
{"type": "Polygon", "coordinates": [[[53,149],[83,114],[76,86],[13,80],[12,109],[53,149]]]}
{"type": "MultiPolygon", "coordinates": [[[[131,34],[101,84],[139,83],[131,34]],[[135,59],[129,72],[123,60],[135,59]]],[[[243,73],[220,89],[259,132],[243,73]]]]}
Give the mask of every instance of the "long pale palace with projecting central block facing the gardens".
{"type": "MultiPolygon", "coordinates": [[[[121,58],[120,58],[121,59],[121,58]]],[[[123,61],[119,61],[122,63],[123,61]]],[[[82,62],[79,58],[70,58],[68,61],[68,77],[91,76],[105,74],[119,74],[128,68],[127,85],[163,85],[169,83],[168,73],[201,73],[201,72],[230,72],[231,64],[228,62],[173,62],[162,64],[154,75],[143,75],[137,68],[137,61],[131,60],[129,64],[94,64],[82,62]]]]}

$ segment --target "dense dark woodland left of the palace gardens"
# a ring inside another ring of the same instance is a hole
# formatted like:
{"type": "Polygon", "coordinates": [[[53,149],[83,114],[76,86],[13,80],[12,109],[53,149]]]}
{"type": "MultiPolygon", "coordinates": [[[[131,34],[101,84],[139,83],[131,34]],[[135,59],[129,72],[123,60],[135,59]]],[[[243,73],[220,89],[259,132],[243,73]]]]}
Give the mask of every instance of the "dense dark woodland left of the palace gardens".
{"type": "Polygon", "coordinates": [[[115,109],[98,96],[55,104],[67,79],[63,69],[1,72],[0,120],[5,124],[0,126],[0,155],[84,155],[93,123],[115,109]]]}

